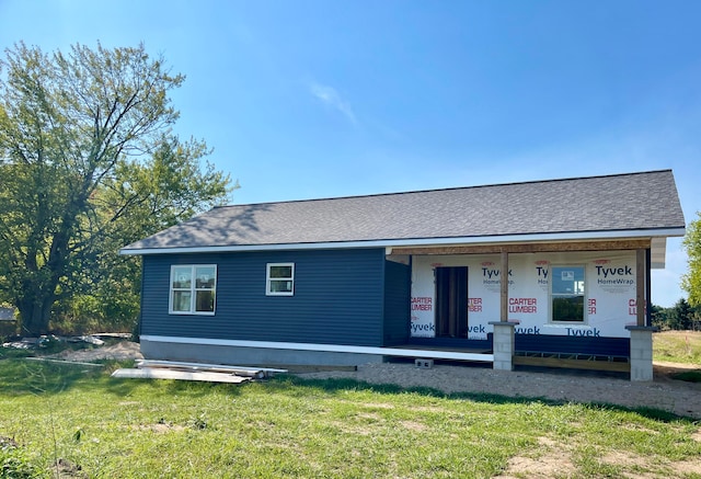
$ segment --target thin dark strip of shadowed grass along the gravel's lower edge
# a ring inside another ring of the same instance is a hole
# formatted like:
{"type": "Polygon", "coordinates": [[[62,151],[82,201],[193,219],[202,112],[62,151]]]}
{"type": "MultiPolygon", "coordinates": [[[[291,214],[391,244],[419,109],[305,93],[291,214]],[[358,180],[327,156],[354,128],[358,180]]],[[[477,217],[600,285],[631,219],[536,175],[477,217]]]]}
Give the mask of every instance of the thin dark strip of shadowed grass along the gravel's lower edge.
{"type": "MultiPolygon", "coordinates": [[[[272,379],[272,385],[276,387],[286,386],[302,386],[318,388],[329,394],[337,394],[347,390],[358,391],[372,391],[381,395],[399,395],[399,394],[416,394],[427,397],[451,399],[451,400],[470,400],[474,402],[484,402],[490,404],[529,404],[532,402],[539,402],[545,406],[564,406],[572,401],[555,400],[544,397],[510,397],[502,395],[492,395],[486,392],[444,392],[438,389],[428,387],[412,387],[403,388],[401,386],[392,384],[370,384],[366,381],[359,381],[350,378],[330,378],[330,379],[307,379],[298,376],[283,375],[272,379]]],[[[582,403],[597,410],[609,411],[622,411],[633,412],[640,414],[643,418],[651,419],[659,422],[677,422],[683,421],[693,424],[698,424],[699,421],[693,418],[682,417],[669,411],[665,411],[656,408],[639,407],[628,408],[619,404],[600,403],[600,402],[586,402],[582,403]]]]}

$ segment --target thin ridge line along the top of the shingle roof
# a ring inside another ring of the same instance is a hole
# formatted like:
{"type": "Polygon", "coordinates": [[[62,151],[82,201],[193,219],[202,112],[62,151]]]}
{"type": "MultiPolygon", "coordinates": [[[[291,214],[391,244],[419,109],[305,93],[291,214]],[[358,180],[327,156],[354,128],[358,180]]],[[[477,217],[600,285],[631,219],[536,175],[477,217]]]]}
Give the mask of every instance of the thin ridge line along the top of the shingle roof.
{"type": "Polygon", "coordinates": [[[515,186],[515,185],[536,184],[536,183],[556,183],[556,182],[565,182],[565,181],[577,181],[577,180],[596,180],[596,179],[602,179],[602,178],[666,173],[671,171],[673,170],[670,168],[667,168],[663,170],[633,171],[628,173],[595,174],[593,176],[572,176],[572,178],[559,178],[559,179],[550,179],[550,180],[515,181],[509,183],[479,184],[479,185],[472,185],[472,186],[450,186],[450,187],[438,187],[438,189],[432,189],[432,190],[413,190],[413,191],[393,192],[393,193],[371,193],[366,195],[330,196],[330,197],[307,198],[307,199],[285,199],[281,202],[246,203],[246,204],[240,204],[240,205],[231,204],[231,205],[215,206],[212,209],[280,205],[280,204],[292,204],[292,203],[331,202],[331,201],[341,201],[341,199],[371,198],[371,197],[380,197],[380,196],[399,196],[399,195],[410,195],[410,194],[418,194],[418,193],[437,193],[437,192],[448,192],[448,191],[457,191],[457,190],[475,190],[475,189],[486,189],[486,187],[496,187],[496,186],[515,186]]]}

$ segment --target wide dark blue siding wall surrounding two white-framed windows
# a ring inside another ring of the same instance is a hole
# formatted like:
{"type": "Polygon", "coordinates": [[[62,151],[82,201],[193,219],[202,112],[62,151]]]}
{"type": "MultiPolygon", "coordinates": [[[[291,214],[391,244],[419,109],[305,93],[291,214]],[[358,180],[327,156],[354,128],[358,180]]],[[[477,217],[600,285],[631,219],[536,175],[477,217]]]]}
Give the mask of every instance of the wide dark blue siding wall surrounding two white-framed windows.
{"type": "Polygon", "coordinates": [[[379,346],[384,250],[143,258],[141,333],[379,346]],[[266,263],[295,263],[295,295],[266,296],[266,263]],[[217,264],[215,316],[169,315],[171,264],[217,264]]]}

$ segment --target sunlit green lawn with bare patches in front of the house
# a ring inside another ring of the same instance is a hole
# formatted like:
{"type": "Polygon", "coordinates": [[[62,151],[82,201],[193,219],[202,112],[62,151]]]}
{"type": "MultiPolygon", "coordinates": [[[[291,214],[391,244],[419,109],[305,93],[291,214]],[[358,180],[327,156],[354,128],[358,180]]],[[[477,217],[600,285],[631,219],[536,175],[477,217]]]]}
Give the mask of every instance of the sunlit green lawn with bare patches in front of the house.
{"type": "Polygon", "coordinates": [[[91,478],[529,477],[548,464],[540,477],[701,477],[699,423],[656,410],[294,377],[114,379],[114,367],[0,361],[0,436],[20,445],[0,461],[55,477],[62,458],[91,478]],[[528,460],[541,466],[513,469],[528,460]]]}

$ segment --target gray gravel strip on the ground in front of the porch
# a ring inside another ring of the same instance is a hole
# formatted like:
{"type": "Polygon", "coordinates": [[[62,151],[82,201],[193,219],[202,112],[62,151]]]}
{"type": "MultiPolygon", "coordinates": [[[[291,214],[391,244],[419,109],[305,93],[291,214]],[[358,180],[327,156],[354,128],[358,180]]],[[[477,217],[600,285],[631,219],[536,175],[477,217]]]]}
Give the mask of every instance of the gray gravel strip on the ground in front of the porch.
{"type": "Polygon", "coordinates": [[[444,392],[486,392],[508,397],[548,398],[624,407],[650,407],[701,419],[701,384],[670,375],[688,365],[655,364],[655,379],[632,383],[622,374],[549,369],[494,370],[486,367],[436,364],[423,369],[413,363],[372,363],[357,370],[299,374],[306,378],[353,378],[370,384],[429,387],[444,392]]]}

